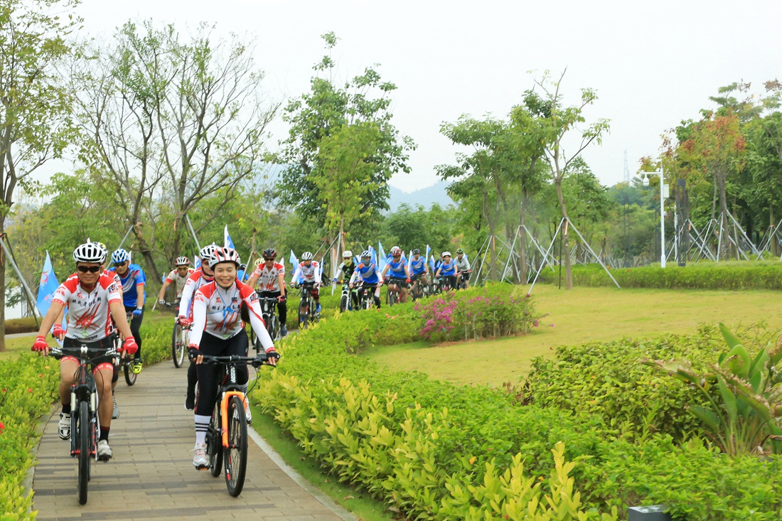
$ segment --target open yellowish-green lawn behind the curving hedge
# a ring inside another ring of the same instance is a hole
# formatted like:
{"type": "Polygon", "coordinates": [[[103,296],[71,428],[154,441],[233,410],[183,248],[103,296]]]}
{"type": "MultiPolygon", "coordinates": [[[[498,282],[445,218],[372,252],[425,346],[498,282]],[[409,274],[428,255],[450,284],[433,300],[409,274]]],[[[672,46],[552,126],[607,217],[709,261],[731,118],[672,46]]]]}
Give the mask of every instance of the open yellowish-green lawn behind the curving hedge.
{"type": "Polygon", "coordinates": [[[535,305],[549,315],[532,334],[486,342],[429,347],[426,343],[382,347],[368,356],[390,368],[418,370],[454,383],[499,386],[516,382],[529,361],[554,348],[592,340],[691,332],[698,323],[726,325],[765,321],[782,328],[782,293],[695,289],[617,289],[576,287],[571,291],[536,285],[535,305]]]}

